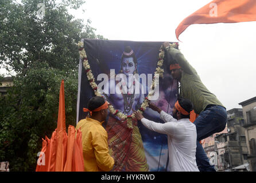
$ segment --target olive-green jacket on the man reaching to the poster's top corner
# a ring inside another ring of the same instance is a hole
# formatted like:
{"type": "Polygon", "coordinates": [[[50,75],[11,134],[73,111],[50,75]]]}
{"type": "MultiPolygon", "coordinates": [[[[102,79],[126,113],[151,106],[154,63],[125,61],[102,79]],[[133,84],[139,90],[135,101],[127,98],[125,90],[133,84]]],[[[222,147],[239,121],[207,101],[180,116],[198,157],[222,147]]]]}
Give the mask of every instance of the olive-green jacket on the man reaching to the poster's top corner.
{"type": "Polygon", "coordinates": [[[180,97],[187,98],[193,103],[195,113],[200,114],[210,104],[223,106],[218,98],[204,86],[196,70],[179,50],[173,47],[166,47],[166,50],[183,69],[180,79],[180,97]]]}

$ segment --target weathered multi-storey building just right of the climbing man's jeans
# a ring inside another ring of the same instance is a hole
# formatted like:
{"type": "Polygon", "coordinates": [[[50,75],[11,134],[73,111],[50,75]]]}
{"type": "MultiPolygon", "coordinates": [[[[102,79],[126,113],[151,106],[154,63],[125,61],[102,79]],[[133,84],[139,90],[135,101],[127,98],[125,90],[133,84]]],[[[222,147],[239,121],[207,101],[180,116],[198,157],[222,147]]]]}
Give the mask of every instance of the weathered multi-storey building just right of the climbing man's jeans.
{"type": "MultiPolygon", "coordinates": [[[[216,170],[231,172],[236,171],[236,167],[247,164],[248,150],[242,109],[231,109],[227,113],[226,129],[205,138],[203,147],[216,170]]],[[[247,171],[245,168],[239,169],[241,170],[247,171]]]]}

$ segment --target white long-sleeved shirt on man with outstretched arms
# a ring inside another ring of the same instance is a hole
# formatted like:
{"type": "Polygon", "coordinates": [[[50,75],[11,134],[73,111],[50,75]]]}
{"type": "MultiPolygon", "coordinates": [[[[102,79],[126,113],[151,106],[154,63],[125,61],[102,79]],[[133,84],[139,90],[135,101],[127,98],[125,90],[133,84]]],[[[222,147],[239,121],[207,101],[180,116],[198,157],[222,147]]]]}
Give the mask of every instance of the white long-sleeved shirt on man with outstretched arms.
{"type": "Polygon", "coordinates": [[[160,118],[165,124],[142,118],[146,128],[167,134],[171,172],[199,172],[196,165],[196,126],[188,118],[176,120],[161,111],[160,118]]]}

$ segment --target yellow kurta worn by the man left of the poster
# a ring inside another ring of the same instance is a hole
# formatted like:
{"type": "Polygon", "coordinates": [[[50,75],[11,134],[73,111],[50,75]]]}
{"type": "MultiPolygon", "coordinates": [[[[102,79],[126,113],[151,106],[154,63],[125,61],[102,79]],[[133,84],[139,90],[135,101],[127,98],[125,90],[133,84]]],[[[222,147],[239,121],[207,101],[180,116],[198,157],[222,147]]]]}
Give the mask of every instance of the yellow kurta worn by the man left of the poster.
{"type": "Polygon", "coordinates": [[[107,132],[102,124],[87,117],[78,122],[77,129],[82,131],[84,171],[100,172],[113,169],[114,159],[108,152],[107,132]]]}

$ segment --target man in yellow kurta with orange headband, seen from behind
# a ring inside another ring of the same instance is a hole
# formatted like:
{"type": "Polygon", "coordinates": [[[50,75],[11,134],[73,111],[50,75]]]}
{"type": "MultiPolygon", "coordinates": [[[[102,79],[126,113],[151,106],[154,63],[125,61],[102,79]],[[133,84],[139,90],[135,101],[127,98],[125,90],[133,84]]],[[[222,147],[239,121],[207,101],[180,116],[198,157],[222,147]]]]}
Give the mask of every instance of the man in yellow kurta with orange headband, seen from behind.
{"type": "Polygon", "coordinates": [[[114,158],[108,152],[107,132],[102,123],[106,120],[108,103],[103,97],[92,97],[88,102],[91,117],[80,120],[76,130],[82,131],[84,171],[110,171],[114,166],[114,158]]]}

